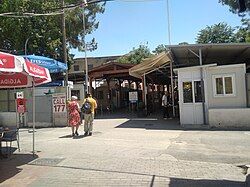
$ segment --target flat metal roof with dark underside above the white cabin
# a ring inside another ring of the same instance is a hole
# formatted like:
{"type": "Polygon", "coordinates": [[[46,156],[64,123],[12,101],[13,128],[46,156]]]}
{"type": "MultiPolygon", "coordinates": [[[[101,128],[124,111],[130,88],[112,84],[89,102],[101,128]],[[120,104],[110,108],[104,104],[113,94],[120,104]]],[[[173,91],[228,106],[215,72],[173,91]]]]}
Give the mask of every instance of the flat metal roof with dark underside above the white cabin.
{"type": "Polygon", "coordinates": [[[199,54],[199,49],[202,51],[202,64],[250,65],[249,43],[169,45],[167,48],[174,59],[175,67],[199,65],[199,58],[194,54],[199,54]]]}

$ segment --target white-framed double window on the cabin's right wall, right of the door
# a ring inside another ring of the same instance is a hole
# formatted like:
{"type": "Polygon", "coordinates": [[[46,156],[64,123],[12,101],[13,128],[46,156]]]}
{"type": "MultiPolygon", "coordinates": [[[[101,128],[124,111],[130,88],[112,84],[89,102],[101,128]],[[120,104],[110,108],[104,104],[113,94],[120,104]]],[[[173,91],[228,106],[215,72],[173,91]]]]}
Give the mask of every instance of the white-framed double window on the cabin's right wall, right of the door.
{"type": "Polygon", "coordinates": [[[235,95],[234,75],[214,76],[214,96],[235,95]]]}

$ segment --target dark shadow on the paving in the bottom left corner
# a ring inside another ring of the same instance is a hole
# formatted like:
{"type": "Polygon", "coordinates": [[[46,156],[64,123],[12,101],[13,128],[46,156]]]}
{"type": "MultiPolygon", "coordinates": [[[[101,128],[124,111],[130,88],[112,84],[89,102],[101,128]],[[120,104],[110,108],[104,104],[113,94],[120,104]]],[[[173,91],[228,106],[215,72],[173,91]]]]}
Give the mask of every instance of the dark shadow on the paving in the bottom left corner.
{"type": "Polygon", "coordinates": [[[0,160],[0,184],[22,171],[19,166],[25,165],[38,156],[33,154],[13,154],[9,158],[0,160]]]}

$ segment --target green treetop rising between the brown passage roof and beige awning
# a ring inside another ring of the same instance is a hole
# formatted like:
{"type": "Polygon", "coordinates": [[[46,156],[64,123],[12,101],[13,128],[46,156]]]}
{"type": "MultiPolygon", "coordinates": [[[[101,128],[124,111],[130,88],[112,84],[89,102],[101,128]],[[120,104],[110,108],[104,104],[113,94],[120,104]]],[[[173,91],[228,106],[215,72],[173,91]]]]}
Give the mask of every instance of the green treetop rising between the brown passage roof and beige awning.
{"type": "Polygon", "coordinates": [[[117,59],[119,63],[139,64],[143,59],[152,56],[150,49],[146,45],[139,45],[138,48],[133,48],[128,54],[117,59]]]}

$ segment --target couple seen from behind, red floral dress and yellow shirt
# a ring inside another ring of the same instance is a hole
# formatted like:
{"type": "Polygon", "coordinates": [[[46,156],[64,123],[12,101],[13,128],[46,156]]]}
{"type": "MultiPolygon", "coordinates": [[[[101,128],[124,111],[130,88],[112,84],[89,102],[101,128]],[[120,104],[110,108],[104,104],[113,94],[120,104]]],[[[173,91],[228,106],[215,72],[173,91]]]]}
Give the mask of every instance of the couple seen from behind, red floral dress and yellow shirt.
{"type": "Polygon", "coordinates": [[[95,109],[97,103],[91,94],[87,94],[82,106],[80,107],[77,102],[76,96],[71,97],[71,101],[68,103],[69,111],[69,125],[72,129],[72,136],[79,136],[78,128],[82,124],[84,118],[84,136],[91,136],[93,131],[93,121],[95,116],[95,109]]]}

